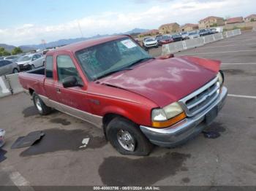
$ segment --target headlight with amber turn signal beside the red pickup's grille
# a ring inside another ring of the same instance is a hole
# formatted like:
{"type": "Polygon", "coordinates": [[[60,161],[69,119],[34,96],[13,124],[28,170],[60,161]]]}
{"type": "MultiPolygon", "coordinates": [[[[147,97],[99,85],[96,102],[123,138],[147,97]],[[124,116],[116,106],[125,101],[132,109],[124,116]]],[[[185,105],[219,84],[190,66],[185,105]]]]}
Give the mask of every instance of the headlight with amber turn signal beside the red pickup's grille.
{"type": "Polygon", "coordinates": [[[154,128],[166,128],[187,117],[177,102],[162,109],[153,109],[151,116],[154,128]]]}

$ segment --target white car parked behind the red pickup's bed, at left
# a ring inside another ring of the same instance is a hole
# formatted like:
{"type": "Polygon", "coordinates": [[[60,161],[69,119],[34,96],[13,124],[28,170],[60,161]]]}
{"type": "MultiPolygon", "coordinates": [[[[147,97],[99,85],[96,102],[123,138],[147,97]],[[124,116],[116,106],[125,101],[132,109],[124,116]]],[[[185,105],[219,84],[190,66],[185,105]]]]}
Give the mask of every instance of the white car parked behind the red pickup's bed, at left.
{"type": "Polygon", "coordinates": [[[23,55],[22,57],[18,58],[17,63],[20,71],[35,69],[44,66],[45,57],[40,54],[23,55]]]}

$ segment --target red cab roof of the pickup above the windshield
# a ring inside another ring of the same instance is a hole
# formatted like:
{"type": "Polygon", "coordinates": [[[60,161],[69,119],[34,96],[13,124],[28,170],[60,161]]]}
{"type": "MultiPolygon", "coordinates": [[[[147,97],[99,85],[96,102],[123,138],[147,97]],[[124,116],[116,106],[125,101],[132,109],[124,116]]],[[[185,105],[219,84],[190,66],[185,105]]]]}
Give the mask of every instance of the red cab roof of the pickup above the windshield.
{"type": "Polygon", "coordinates": [[[118,36],[108,36],[108,37],[102,37],[99,39],[90,39],[90,40],[86,40],[83,42],[76,42],[73,44],[68,44],[66,46],[63,47],[59,47],[55,50],[50,50],[46,53],[46,55],[53,55],[54,52],[59,52],[59,51],[69,51],[69,52],[76,52],[78,50],[83,50],[87,47],[93,47],[97,44],[102,44],[105,42],[110,42],[116,39],[122,39],[127,37],[128,35],[118,35],[118,36]]]}

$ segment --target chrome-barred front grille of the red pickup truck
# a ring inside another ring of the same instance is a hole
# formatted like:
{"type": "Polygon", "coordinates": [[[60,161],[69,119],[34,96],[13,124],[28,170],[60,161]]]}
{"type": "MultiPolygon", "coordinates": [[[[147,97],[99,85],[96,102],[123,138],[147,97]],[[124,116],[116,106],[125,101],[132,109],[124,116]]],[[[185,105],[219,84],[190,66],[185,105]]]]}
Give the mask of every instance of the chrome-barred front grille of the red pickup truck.
{"type": "Polygon", "coordinates": [[[182,98],[178,103],[184,109],[187,116],[191,117],[206,109],[207,106],[211,105],[218,98],[219,88],[218,77],[216,77],[194,93],[182,98]]]}

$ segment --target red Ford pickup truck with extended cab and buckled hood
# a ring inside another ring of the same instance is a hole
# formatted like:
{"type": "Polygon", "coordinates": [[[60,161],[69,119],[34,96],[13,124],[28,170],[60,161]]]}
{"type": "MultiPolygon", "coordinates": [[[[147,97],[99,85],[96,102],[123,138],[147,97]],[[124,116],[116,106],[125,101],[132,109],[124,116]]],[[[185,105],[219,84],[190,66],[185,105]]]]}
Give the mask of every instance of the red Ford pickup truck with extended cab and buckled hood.
{"type": "Polygon", "coordinates": [[[19,74],[39,114],[51,109],[96,125],[118,152],[176,147],[209,125],[225,102],[219,61],[153,58],[129,36],[70,44],[46,54],[45,68],[19,74]]]}

